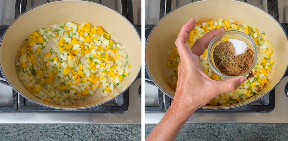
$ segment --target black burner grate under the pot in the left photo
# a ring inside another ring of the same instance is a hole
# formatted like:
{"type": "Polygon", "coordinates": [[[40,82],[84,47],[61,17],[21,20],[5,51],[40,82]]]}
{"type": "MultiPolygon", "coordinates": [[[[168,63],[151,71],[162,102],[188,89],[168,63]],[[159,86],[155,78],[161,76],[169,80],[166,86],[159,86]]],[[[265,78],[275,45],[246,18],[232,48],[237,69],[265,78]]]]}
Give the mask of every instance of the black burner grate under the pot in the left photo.
{"type": "MultiPolygon", "coordinates": [[[[50,0],[47,0],[49,2],[50,0]]],[[[129,0],[122,0],[122,13],[123,15],[132,23],[134,23],[133,19],[133,8],[132,8],[132,1],[129,0]]],[[[98,3],[101,3],[101,0],[99,0],[98,3]]],[[[15,4],[15,16],[14,18],[17,18],[20,13],[24,13],[26,11],[27,6],[27,0],[16,0],[15,4]]],[[[7,29],[9,25],[0,25],[0,39],[3,37],[3,34],[5,30],[7,29]]],[[[141,25],[135,25],[135,28],[139,32],[139,35],[141,35],[141,25]]],[[[141,74],[141,73],[140,73],[141,74]]],[[[0,73],[0,78],[3,78],[2,73],[0,73]]],[[[137,77],[141,78],[141,75],[137,77]]],[[[4,79],[4,78],[3,78],[4,79]]],[[[0,80],[0,83],[8,85],[9,84],[3,80],[0,80]]],[[[123,94],[115,98],[114,100],[105,103],[103,105],[99,105],[96,107],[88,108],[88,109],[81,109],[81,110],[60,110],[60,109],[54,109],[50,107],[45,107],[41,105],[26,105],[27,99],[20,95],[19,97],[19,109],[21,111],[93,111],[93,112],[124,112],[128,110],[129,106],[129,90],[126,90],[123,94]],[[121,101],[122,104],[115,105],[113,102],[115,101],[121,101]]],[[[13,89],[12,91],[12,106],[0,106],[0,111],[16,111],[18,109],[18,93],[13,89]]]]}

